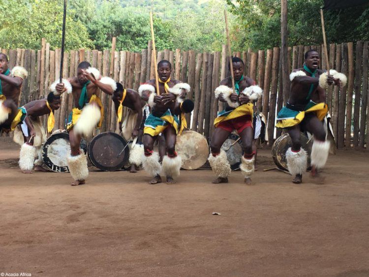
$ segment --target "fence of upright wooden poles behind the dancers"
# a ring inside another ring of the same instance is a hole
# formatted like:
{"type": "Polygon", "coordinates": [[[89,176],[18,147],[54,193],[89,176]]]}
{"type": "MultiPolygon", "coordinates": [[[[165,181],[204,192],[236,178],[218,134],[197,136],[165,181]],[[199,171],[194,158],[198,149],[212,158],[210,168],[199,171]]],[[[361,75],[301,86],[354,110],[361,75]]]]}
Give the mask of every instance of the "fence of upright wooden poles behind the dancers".
{"type": "MultiPolygon", "coordinates": [[[[368,102],[368,41],[329,45],[329,60],[331,68],[346,74],[348,84],[342,90],[330,87],[327,90],[327,103],[332,115],[332,125],[338,148],[364,149],[369,143],[369,120],[367,116],[368,102]],[[367,135],[365,131],[367,130],[367,135]]],[[[320,67],[325,68],[322,46],[294,46],[288,49],[289,69],[303,65],[304,53],[309,49],[321,53],[320,67]]],[[[88,61],[98,68],[102,75],[110,76],[119,81],[125,88],[137,90],[140,83],[154,78],[154,57],[152,43],[141,53],[116,51],[115,39],[111,50],[70,51],[64,54],[64,78],[75,76],[79,62],[88,61]]],[[[61,50],[50,50],[50,44],[45,39],[41,41],[40,50],[2,49],[8,55],[9,67],[24,66],[29,77],[24,81],[20,96],[20,105],[28,101],[46,97],[49,85],[59,78],[61,50]]],[[[233,53],[243,59],[246,65],[245,75],[254,79],[264,90],[263,97],[257,102],[257,107],[268,119],[269,145],[281,134],[275,129],[276,113],[285,104],[283,99],[281,79],[280,51],[278,47],[266,51],[233,53]]],[[[210,138],[213,131],[213,121],[222,103],[218,103],[214,90],[220,80],[229,75],[226,48],[222,52],[195,53],[195,51],[163,50],[157,52],[157,61],[169,60],[173,65],[172,78],[182,80],[191,86],[188,97],[194,100],[195,108],[190,129],[210,138]]],[[[291,70],[290,70],[291,71],[291,70]]],[[[289,84],[288,84],[289,88],[289,84]]],[[[287,92],[285,95],[289,95],[287,92]]],[[[111,96],[102,93],[105,117],[100,131],[117,131],[117,117],[111,96]]],[[[62,97],[62,107],[56,112],[55,129],[64,128],[67,115],[72,109],[72,95],[62,97]]],[[[189,115],[187,122],[189,122],[189,115]]],[[[46,119],[44,119],[46,121],[46,119]]]]}

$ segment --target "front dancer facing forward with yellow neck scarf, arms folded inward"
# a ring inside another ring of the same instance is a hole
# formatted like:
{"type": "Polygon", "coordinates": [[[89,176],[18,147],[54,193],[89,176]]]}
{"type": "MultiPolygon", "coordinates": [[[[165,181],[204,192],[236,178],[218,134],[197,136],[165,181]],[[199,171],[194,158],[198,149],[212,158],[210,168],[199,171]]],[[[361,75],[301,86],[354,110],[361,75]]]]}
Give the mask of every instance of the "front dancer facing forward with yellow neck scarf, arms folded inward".
{"type": "Polygon", "coordinates": [[[190,86],[178,80],[171,80],[171,72],[170,62],[166,60],[159,62],[157,64],[159,93],[156,91],[155,80],[147,81],[138,89],[142,99],[152,108],[152,113],[145,121],[143,138],[146,156],[143,166],[154,177],[149,184],[161,183],[159,175],[161,167],[166,182],[175,183],[173,177],[179,176],[182,164],[181,157],[175,151],[177,134],[181,133],[182,128],[175,115],[173,103],[182,102],[186,93],[190,91],[190,86]],[[164,134],[167,152],[162,166],[159,163],[159,155],[153,151],[154,141],[160,133],[164,134]]]}

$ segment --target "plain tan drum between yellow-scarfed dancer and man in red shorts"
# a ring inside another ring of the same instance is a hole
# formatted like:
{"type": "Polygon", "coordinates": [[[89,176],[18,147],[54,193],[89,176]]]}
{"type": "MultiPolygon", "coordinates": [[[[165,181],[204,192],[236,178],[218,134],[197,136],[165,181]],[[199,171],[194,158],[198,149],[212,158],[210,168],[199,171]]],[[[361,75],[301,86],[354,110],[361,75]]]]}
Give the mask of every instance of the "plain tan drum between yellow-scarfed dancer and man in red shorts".
{"type": "Polygon", "coordinates": [[[200,168],[209,157],[209,145],[206,138],[195,131],[184,131],[177,136],[176,151],[182,158],[184,169],[200,168]]]}

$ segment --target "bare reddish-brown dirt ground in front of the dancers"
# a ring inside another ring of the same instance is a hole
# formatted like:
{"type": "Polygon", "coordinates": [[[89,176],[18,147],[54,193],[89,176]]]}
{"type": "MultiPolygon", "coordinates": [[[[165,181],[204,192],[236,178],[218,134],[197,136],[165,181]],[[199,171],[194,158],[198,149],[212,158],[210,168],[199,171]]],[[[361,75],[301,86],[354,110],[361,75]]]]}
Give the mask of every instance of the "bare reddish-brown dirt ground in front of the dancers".
{"type": "Polygon", "coordinates": [[[330,155],[324,185],[294,185],[259,152],[255,185],[232,172],[24,175],[1,138],[0,272],[32,276],[369,276],[369,154],[330,155]],[[221,215],[212,215],[213,212],[221,215]]]}

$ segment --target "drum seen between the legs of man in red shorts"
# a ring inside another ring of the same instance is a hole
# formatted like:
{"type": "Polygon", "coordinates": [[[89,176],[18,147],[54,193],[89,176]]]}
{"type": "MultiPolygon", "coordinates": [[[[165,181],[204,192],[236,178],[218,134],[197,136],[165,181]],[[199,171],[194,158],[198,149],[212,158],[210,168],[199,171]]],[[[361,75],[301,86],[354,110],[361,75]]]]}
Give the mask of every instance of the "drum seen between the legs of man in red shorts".
{"type": "Polygon", "coordinates": [[[224,141],[221,149],[223,149],[227,154],[227,159],[231,165],[231,169],[239,169],[241,157],[244,154],[242,151],[242,140],[240,137],[234,133],[230,133],[228,138],[224,141]]]}

